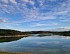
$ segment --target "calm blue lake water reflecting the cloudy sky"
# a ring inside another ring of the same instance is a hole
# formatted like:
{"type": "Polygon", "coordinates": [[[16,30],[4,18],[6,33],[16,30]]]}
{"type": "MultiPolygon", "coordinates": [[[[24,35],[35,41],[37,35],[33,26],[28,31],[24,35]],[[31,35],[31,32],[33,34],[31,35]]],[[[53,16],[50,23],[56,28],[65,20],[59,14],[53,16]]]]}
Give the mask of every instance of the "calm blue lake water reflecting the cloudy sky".
{"type": "MultiPolygon", "coordinates": [[[[8,39],[6,39],[8,40],[8,39]]],[[[32,54],[70,54],[70,37],[30,36],[0,42],[0,51],[31,52],[32,54]]]]}

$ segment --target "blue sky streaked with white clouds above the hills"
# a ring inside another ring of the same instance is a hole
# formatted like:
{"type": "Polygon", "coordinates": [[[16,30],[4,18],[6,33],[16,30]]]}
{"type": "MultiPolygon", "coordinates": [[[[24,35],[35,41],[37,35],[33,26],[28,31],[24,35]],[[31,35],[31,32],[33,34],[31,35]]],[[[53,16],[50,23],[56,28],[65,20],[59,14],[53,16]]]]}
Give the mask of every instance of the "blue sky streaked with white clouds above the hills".
{"type": "Polygon", "coordinates": [[[0,29],[70,28],[70,0],[0,0],[0,29]]]}

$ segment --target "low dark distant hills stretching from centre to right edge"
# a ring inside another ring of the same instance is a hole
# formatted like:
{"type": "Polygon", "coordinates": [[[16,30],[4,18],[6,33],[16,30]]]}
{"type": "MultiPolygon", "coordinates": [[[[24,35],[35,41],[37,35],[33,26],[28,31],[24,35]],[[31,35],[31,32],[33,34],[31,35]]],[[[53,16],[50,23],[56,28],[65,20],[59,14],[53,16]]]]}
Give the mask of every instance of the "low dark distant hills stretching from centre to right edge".
{"type": "Polygon", "coordinates": [[[52,34],[52,35],[62,35],[70,36],[70,31],[31,31],[31,34],[52,34]]]}

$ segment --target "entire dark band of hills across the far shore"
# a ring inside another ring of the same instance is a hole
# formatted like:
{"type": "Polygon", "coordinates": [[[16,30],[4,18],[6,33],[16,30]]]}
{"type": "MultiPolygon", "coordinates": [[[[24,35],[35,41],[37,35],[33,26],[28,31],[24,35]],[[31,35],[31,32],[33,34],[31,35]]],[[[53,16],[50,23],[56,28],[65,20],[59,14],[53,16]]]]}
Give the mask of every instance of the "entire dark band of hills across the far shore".
{"type": "Polygon", "coordinates": [[[21,32],[17,30],[10,29],[0,29],[0,37],[1,36],[29,36],[31,34],[53,34],[53,35],[63,35],[70,36],[70,31],[27,31],[21,32]]]}

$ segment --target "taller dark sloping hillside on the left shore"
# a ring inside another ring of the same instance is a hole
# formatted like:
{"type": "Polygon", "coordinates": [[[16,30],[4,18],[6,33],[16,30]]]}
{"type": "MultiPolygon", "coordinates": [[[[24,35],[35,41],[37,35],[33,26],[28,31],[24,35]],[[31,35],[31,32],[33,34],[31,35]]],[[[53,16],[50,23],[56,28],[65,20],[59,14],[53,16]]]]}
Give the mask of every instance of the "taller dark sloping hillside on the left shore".
{"type": "Polygon", "coordinates": [[[28,35],[26,32],[10,30],[10,29],[0,29],[0,36],[14,36],[14,35],[28,35]]]}

